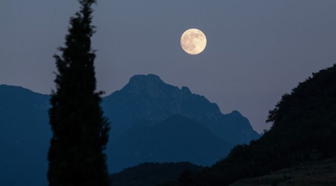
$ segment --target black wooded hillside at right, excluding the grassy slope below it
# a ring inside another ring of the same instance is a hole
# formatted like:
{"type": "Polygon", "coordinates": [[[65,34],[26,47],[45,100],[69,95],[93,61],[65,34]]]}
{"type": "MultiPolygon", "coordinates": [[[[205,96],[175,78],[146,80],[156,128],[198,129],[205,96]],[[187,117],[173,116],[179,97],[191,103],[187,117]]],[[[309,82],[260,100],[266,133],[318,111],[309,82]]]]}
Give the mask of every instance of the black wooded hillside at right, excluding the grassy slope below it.
{"type": "Polygon", "coordinates": [[[336,65],[313,73],[283,95],[267,121],[272,127],[260,139],[236,146],[227,158],[193,176],[187,185],[227,185],[336,156],[336,65]]]}

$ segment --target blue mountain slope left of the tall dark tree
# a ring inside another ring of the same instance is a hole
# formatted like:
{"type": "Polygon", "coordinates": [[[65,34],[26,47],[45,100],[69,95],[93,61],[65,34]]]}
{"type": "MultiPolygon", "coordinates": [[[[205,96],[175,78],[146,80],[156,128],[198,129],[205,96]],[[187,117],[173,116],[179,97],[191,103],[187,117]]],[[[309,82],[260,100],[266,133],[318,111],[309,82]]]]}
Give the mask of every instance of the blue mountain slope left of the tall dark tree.
{"type": "Polygon", "coordinates": [[[48,95],[0,85],[0,185],[46,184],[48,107],[48,95]]]}

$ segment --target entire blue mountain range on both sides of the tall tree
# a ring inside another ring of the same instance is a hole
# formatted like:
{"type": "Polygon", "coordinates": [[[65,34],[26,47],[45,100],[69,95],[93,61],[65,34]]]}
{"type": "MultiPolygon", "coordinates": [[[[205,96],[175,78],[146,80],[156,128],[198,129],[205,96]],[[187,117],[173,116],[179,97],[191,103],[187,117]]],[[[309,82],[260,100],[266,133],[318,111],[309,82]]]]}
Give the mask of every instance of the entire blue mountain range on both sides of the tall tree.
{"type": "MultiPolygon", "coordinates": [[[[0,85],[0,185],[45,185],[49,95],[0,85]]],[[[111,122],[110,172],[143,162],[211,165],[235,144],[259,138],[238,111],[223,115],[215,103],[157,75],[134,75],[103,98],[111,122]]]]}

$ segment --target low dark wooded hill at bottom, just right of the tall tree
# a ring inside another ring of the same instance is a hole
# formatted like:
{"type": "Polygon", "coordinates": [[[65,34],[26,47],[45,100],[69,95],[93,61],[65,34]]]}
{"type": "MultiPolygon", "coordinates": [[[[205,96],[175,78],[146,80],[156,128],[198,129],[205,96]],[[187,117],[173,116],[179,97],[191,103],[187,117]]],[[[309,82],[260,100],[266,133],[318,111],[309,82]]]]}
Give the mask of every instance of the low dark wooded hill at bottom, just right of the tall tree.
{"type": "Polygon", "coordinates": [[[143,163],[141,165],[124,169],[111,175],[113,186],[155,186],[159,183],[178,179],[182,171],[189,170],[193,173],[201,172],[204,167],[180,163],[143,163]]]}

